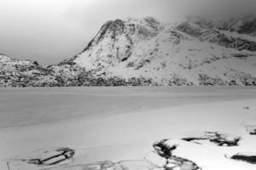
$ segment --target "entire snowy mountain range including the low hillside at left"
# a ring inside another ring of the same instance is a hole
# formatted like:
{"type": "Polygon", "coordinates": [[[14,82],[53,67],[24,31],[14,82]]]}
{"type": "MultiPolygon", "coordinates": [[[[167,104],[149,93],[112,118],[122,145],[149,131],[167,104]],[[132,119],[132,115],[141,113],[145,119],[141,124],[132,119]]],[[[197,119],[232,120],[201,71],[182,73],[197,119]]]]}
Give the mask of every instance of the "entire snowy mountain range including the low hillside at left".
{"type": "Polygon", "coordinates": [[[256,17],[113,20],[60,65],[0,65],[1,86],[256,85],[256,17]]]}

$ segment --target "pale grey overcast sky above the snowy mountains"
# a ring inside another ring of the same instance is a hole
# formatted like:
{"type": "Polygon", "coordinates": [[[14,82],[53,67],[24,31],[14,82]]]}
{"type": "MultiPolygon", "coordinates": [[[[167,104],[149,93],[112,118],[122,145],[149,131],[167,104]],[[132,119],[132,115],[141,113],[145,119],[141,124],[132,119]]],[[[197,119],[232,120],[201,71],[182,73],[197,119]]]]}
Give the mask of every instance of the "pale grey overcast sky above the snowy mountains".
{"type": "Polygon", "coordinates": [[[0,54],[56,64],[78,54],[108,20],[233,14],[255,0],[0,0],[0,54]]]}

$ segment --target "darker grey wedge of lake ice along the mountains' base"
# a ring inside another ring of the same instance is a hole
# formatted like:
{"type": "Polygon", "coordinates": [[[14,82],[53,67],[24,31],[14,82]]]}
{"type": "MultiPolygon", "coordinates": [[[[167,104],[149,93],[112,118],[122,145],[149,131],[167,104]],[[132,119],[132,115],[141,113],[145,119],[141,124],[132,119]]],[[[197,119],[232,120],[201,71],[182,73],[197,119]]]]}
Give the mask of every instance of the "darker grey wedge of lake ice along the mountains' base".
{"type": "Polygon", "coordinates": [[[0,128],[237,99],[256,88],[1,88],[0,128]]]}

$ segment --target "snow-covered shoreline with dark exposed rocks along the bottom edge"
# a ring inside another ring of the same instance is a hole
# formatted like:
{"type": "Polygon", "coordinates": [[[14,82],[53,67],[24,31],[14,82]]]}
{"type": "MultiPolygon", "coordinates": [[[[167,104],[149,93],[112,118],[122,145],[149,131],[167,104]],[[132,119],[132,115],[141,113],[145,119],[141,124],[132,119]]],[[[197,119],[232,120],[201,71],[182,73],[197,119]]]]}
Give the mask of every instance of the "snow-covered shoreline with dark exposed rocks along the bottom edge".
{"type": "Polygon", "coordinates": [[[9,170],[212,170],[241,169],[241,167],[251,170],[255,168],[255,153],[237,152],[242,149],[235,144],[238,139],[241,139],[240,137],[217,132],[201,134],[201,136],[190,135],[193,137],[182,139],[178,137],[161,139],[148,148],[148,154],[141,160],[124,159],[84,163],[79,160],[86,160],[86,156],[79,155],[79,150],[76,150],[78,155],[75,155],[74,150],[62,147],[38,150],[30,153],[29,156],[16,156],[9,159],[7,165],[9,170]],[[214,144],[199,144],[194,139],[210,140],[214,144]],[[224,147],[223,142],[233,144],[234,147],[224,147]]]}

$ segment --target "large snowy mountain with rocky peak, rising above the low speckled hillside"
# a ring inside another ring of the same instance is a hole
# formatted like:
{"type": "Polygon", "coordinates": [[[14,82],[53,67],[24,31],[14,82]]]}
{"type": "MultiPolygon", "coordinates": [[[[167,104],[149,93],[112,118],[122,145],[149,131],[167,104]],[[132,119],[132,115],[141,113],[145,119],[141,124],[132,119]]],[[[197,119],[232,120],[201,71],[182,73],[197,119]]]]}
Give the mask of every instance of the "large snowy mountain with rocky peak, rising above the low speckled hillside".
{"type": "Polygon", "coordinates": [[[199,18],[172,25],[153,18],[108,21],[83,52],[61,65],[160,85],[253,85],[256,38],[254,22],[247,25],[199,18]]]}

